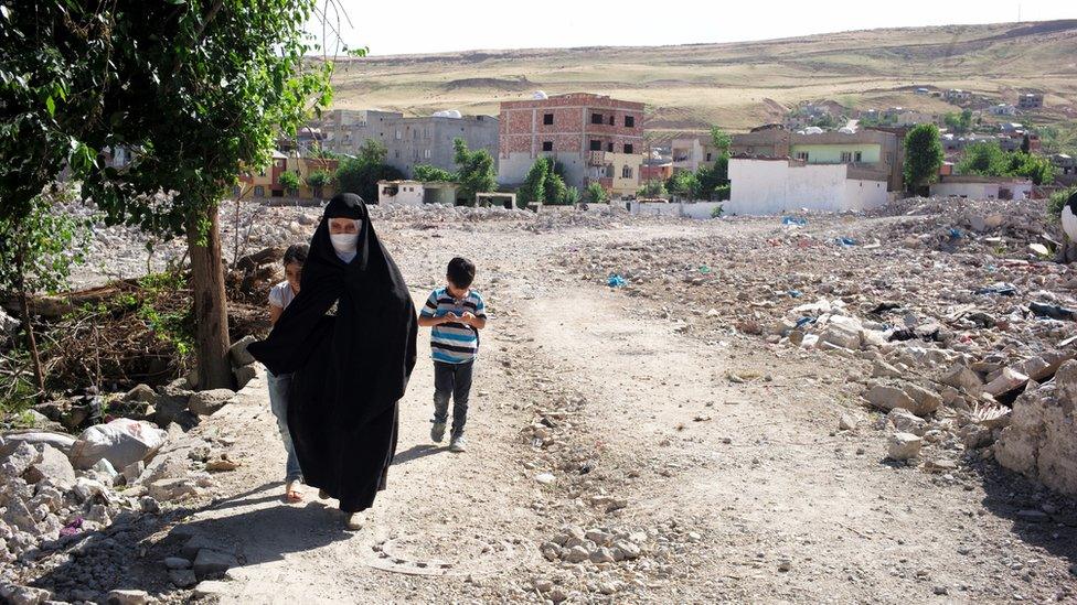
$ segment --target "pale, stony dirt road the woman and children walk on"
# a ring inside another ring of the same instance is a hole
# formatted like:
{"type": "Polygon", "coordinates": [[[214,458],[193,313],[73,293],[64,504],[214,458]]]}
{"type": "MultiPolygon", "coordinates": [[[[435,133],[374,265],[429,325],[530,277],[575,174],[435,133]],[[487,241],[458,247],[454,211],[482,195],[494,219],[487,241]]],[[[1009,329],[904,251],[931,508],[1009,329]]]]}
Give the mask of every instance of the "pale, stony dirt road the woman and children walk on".
{"type": "Polygon", "coordinates": [[[470,450],[429,443],[424,334],[376,525],[345,532],[312,491],[280,501],[284,453],[259,377],[196,429],[234,441],[243,462],[220,475],[228,497],[179,530],[239,557],[202,590],[242,603],[1077,598],[1077,531],[1026,520],[1033,491],[991,464],[928,474],[885,462],[886,433],[842,396],[840,357],[682,333],[657,302],[556,262],[585,239],[729,228],[390,234],[419,303],[454,253],[479,266],[492,317],[470,450]],[[850,410],[863,424],[836,431],[850,410]],[[556,560],[550,541],[566,526],[631,536],[639,557],[556,560]]]}

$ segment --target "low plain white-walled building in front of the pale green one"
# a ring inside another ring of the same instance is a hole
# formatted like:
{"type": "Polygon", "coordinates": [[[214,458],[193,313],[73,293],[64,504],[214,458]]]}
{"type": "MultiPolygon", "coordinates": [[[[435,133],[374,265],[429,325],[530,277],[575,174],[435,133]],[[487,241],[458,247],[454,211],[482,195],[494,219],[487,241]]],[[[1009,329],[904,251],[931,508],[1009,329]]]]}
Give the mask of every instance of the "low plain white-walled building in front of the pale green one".
{"type": "Polygon", "coordinates": [[[865,210],[889,198],[886,177],[851,164],[810,164],[788,158],[729,159],[726,214],[865,210]]]}

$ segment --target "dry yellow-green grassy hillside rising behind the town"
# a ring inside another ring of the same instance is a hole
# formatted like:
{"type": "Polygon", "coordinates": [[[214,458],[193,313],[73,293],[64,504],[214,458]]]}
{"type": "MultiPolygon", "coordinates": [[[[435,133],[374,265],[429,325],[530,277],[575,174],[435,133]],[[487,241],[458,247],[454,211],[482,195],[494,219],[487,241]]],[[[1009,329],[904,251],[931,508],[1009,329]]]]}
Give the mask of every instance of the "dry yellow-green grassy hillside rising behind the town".
{"type": "MultiPolygon", "coordinates": [[[[744,130],[803,100],[943,111],[916,86],[1013,101],[1042,90],[1038,121],[1077,118],[1077,20],[903,28],[728,44],[470,51],[345,60],[335,107],[497,114],[501,100],[593,91],[648,105],[647,128],[744,130]]],[[[1036,120],[1031,120],[1036,121],[1036,120]]]]}

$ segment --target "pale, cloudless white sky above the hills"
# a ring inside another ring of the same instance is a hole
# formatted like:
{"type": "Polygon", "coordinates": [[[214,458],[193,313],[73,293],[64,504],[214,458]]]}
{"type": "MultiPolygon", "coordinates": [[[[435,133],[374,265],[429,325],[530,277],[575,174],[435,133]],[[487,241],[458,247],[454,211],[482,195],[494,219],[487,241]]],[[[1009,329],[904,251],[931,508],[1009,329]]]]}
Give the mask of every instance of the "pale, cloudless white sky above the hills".
{"type": "MultiPolygon", "coordinates": [[[[1075,0],[737,1],[317,0],[346,12],[340,37],[372,56],[469,50],[657,46],[849,30],[1077,19],[1075,0]],[[669,10],[663,10],[669,9],[669,10]]],[[[329,23],[335,23],[330,8],[329,23]]],[[[322,23],[308,26],[321,40],[322,23]]],[[[331,29],[330,29],[331,31],[331,29]]],[[[329,36],[335,40],[330,33],[329,36]]]]}

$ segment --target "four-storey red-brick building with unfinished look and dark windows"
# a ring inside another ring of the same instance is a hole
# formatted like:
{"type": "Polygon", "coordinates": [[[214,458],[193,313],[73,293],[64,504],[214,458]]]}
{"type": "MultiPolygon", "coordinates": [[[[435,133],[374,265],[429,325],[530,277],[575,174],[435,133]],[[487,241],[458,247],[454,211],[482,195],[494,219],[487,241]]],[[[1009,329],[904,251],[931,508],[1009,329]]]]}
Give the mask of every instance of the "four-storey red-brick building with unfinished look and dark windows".
{"type": "Polygon", "coordinates": [[[601,184],[635,195],[643,162],[643,104],[588,93],[503,101],[498,182],[519,185],[540,156],[554,159],[565,184],[601,184]]]}

